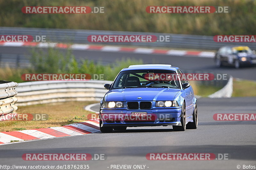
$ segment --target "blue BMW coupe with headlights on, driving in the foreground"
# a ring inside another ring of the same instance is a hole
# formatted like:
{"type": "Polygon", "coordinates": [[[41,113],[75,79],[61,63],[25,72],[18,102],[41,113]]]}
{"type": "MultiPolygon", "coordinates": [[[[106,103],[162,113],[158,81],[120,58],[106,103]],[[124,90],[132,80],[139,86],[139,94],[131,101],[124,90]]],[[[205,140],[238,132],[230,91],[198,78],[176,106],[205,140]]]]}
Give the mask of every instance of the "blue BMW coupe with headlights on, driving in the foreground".
{"type": "Polygon", "coordinates": [[[178,67],[131,65],[122,69],[100,100],[100,131],[127,127],[168,126],[175,131],[197,128],[194,92],[178,67]]]}

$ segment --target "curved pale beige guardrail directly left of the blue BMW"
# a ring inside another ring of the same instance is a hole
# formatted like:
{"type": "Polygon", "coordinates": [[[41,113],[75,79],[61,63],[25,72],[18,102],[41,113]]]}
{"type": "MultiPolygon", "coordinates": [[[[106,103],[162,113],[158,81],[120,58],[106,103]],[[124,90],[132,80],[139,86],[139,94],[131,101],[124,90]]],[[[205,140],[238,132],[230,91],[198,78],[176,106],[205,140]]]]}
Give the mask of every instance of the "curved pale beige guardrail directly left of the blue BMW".
{"type": "Polygon", "coordinates": [[[19,83],[18,106],[64,101],[100,100],[107,92],[103,85],[111,81],[35,81],[19,83]]]}

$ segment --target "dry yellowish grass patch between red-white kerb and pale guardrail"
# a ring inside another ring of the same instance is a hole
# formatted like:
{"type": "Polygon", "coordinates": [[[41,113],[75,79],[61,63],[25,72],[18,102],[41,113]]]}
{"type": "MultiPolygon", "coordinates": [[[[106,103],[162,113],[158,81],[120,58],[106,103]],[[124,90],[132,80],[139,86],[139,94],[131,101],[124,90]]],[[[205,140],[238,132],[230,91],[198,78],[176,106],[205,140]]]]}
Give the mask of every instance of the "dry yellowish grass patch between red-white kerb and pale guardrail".
{"type": "Polygon", "coordinates": [[[62,102],[49,104],[39,104],[31,106],[20,106],[18,114],[45,114],[48,120],[40,121],[3,121],[0,122],[0,131],[16,131],[26,129],[39,129],[56,126],[64,126],[71,123],[78,123],[87,120],[87,115],[91,112],[84,110],[84,106],[95,103],[95,101],[62,102]]]}

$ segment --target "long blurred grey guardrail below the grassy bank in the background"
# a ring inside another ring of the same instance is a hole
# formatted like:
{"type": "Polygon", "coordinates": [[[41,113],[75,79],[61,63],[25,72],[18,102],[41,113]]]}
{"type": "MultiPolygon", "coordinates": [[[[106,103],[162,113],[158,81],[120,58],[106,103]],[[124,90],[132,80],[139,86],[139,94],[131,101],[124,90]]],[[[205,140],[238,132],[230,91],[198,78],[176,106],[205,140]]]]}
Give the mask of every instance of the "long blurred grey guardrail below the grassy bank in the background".
{"type": "MultiPolygon", "coordinates": [[[[48,42],[67,42],[88,44],[89,35],[169,35],[170,42],[101,42],[109,45],[132,45],[148,47],[167,48],[191,48],[191,49],[212,49],[216,50],[223,45],[243,45],[256,49],[255,43],[236,42],[215,42],[213,36],[187,35],[187,34],[167,34],[167,33],[144,33],[144,32],[124,32],[124,31],[101,31],[101,30],[72,30],[54,28],[23,28],[23,27],[0,27],[0,35],[36,35],[46,36],[48,42]]],[[[97,44],[97,43],[94,43],[97,44]]]]}

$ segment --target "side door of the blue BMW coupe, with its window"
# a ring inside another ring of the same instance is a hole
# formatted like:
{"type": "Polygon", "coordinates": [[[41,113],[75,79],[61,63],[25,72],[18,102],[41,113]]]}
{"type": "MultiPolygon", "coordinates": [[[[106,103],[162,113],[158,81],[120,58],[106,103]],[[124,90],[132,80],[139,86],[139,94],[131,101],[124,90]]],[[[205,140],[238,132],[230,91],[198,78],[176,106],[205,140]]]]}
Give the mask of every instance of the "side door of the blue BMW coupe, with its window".
{"type": "MultiPolygon", "coordinates": [[[[184,83],[188,83],[188,80],[186,78],[186,76],[182,73],[181,70],[177,70],[178,71],[178,74],[182,75],[181,76],[181,84],[184,84],[184,83]]],[[[188,88],[186,89],[183,89],[186,93],[186,97],[185,97],[185,102],[186,102],[186,116],[190,116],[193,114],[193,98],[194,98],[194,92],[193,92],[193,89],[191,86],[189,86],[188,88]]]]}

